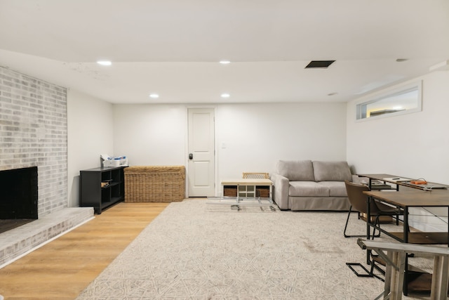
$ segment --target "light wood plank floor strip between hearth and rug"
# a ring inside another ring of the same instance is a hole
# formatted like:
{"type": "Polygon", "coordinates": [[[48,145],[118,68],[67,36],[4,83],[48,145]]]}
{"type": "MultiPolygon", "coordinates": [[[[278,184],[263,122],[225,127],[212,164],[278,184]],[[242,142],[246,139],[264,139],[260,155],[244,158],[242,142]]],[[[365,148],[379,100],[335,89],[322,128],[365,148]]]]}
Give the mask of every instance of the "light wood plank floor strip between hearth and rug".
{"type": "Polygon", "coordinates": [[[5,300],[74,299],[169,203],[124,203],[0,269],[5,300]]]}

